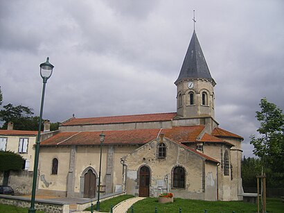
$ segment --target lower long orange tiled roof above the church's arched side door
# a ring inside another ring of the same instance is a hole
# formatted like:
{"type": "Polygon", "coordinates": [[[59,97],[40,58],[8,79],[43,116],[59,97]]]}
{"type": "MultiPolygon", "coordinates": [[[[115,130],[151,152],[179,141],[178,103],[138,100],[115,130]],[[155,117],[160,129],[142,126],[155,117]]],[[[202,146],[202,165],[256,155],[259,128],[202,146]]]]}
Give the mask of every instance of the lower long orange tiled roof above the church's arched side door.
{"type": "MultiPolygon", "coordinates": [[[[138,129],[138,130],[106,130],[105,144],[145,144],[163,133],[176,142],[195,141],[204,126],[179,126],[168,129],[138,129]]],[[[94,145],[100,144],[101,131],[62,132],[41,143],[42,146],[54,145],[94,145]]]]}

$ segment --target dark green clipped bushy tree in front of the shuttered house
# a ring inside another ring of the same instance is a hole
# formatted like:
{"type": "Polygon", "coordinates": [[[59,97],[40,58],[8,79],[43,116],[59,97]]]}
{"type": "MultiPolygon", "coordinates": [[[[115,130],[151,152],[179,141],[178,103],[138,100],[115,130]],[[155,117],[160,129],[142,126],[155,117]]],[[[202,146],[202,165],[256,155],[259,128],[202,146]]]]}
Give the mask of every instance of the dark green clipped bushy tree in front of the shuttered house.
{"type": "Polygon", "coordinates": [[[19,171],[23,168],[24,158],[11,151],[0,151],[0,171],[19,171]]]}

